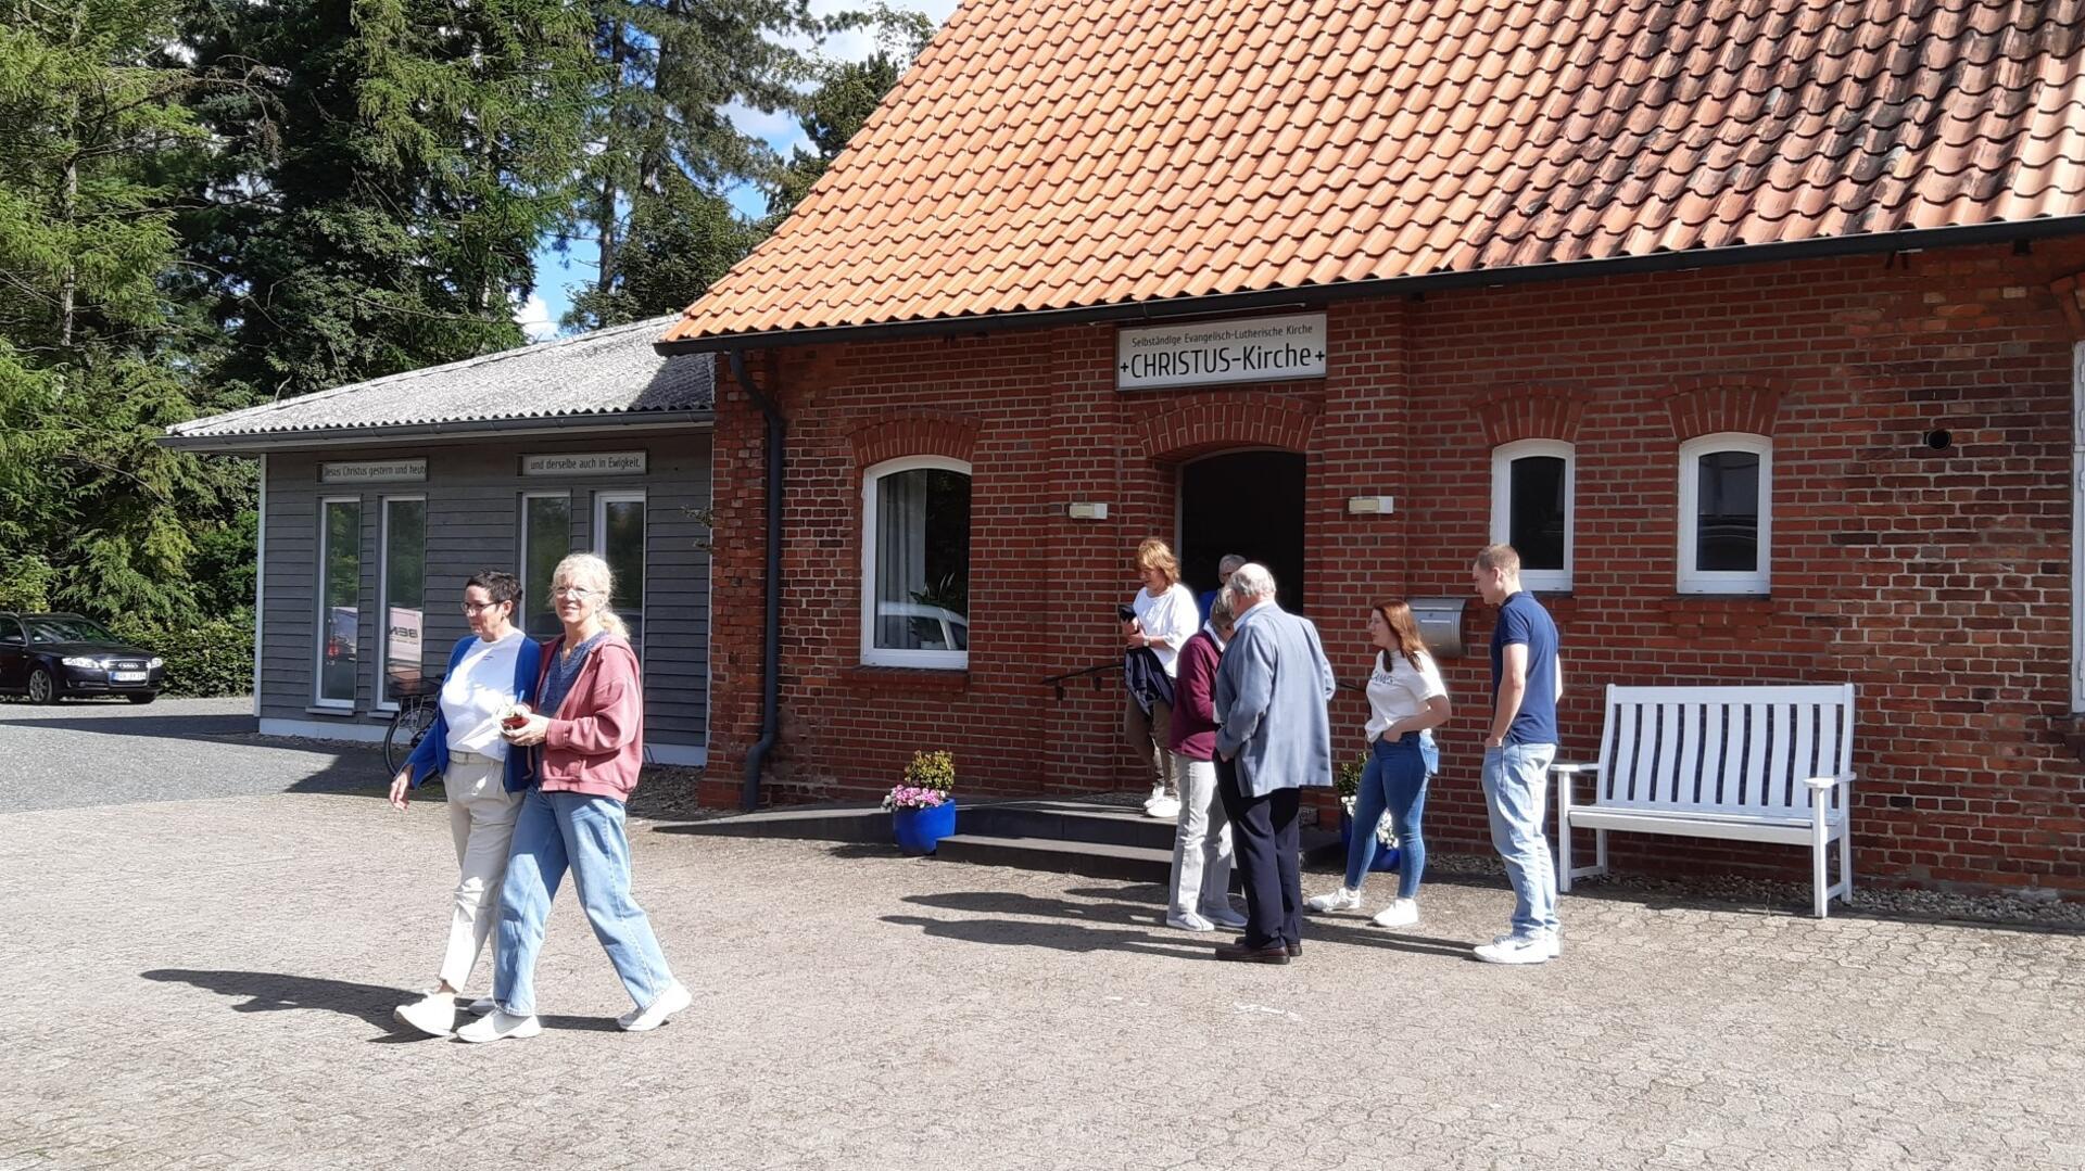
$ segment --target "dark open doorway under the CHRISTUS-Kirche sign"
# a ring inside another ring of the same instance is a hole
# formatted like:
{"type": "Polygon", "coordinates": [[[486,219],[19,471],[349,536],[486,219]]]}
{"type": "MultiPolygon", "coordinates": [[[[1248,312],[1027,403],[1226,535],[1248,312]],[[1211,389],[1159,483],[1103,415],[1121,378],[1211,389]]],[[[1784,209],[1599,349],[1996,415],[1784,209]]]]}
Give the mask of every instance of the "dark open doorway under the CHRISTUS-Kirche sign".
{"type": "Polygon", "coordinates": [[[1236,552],[1274,571],[1284,611],[1303,613],[1303,456],[1230,452],[1180,469],[1180,573],[1213,590],[1236,552]]]}

